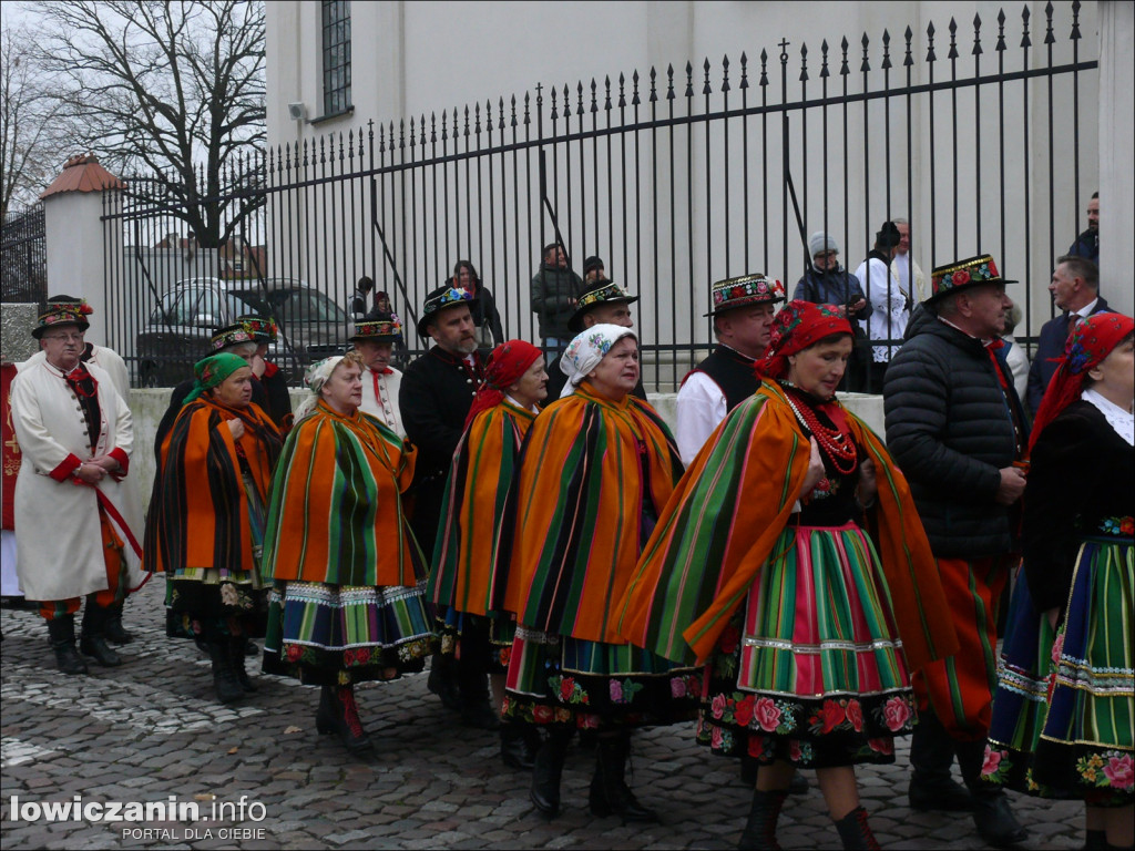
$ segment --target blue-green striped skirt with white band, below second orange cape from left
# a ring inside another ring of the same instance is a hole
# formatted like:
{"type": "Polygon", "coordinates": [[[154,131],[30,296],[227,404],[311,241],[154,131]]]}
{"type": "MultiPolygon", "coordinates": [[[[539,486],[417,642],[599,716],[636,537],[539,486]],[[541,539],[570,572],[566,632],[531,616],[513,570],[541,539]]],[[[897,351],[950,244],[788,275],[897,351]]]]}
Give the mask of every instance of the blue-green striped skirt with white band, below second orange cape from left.
{"type": "Polygon", "coordinates": [[[277,582],[268,598],[264,673],[313,685],[394,680],[422,671],[437,640],[414,588],[277,582]]]}

